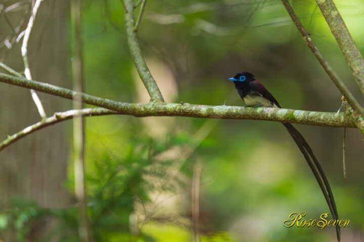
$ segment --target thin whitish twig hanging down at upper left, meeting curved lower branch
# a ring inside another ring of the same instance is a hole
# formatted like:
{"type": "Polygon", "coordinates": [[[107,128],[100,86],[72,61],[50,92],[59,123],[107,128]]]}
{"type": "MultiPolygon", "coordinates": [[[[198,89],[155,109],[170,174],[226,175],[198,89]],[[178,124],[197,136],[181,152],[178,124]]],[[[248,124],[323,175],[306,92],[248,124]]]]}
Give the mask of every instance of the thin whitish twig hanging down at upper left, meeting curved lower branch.
{"type": "MultiPolygon", "coordinates": [[[[42,0],[36,0],[35,1],[32,13],[31,13],[30,18],[29,18],[28,26],[25,29],[23,44],[22,44],[22,47],[21,47],[21,53],[22,53],[22,56],[23,56],[23,62],[24,62],[24,68],[25,68],[24,74],[25,74],[25,77],[28,80],[32,80],[30,69],[29,69],[28,54],[27,54],[27,52],[28,52],[28,40],[29,40],[30,32],[31,32],[31,30],[33,28],[36,13],[37,13],[37,11],[39,9],[39,6],[40,6],[41,2],[42,2],[42,0]]],[[[38,108],[38,112],[39,112],[40,116],[42,118],[47,118],[47,114],[45,114],[43,105],[41,104],[40,99],[39,99],[38,95],[36,94],[36,92],[31,89],[30,93],[32,95],[32,98],[33,98],[33,101],[34,101],[36,107],[38,108]]]]}

